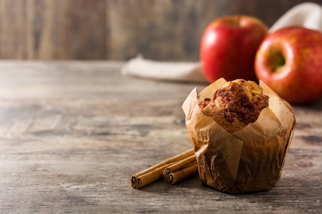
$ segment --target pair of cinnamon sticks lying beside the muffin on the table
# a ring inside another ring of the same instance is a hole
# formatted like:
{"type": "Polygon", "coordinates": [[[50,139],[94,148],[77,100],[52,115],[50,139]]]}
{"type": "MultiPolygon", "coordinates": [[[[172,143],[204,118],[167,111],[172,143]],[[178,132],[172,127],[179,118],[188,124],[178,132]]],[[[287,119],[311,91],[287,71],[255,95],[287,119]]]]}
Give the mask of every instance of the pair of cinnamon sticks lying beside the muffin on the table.
{"type": "Polygon", "coordinates": [[[139,189],[163,177],[168,184],[174,184],[197,173],[198,163],[193,149],[189,149],[135,174],[130,183],[139,189]]]}

